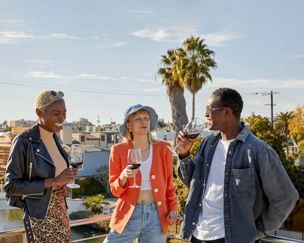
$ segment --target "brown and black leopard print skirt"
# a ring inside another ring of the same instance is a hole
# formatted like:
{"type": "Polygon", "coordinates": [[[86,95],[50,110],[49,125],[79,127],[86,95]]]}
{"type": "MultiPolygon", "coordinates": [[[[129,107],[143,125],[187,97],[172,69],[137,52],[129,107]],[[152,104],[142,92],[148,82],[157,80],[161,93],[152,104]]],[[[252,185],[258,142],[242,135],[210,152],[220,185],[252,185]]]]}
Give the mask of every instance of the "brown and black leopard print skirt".
{"type": "Polygon", "coordinates": [[[45,219],[30,216],[35,243],[72,243],[65,198],[54,193],[45,219]]]}

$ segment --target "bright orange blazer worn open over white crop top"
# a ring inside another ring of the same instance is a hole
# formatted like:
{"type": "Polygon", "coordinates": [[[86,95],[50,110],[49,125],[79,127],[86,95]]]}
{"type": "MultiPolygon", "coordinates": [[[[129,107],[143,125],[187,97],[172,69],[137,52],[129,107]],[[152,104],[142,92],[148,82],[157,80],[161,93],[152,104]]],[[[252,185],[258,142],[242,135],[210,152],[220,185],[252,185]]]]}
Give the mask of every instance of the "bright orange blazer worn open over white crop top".
{"type": "MultiPolygon", "coordinates": [[[[172,152],[168,149],[168,142],[158,141],[153,144],[152,166],[150,180],[155,202],[159,212],[163,233],[169,230],[167,216],[169,211],[177,211],[177,198],[173,186],[173,161],[172,152]]],[[[128,165],[128,149],[132,148],[132,142],[123,142],[111,147],[109,161],[109,183],[113,195],[119,197],[116,208],[110,221],[110,227],[119,234],[129,221],[139,194],[140,188],[129,188],[133,185],[133,178],[127,178],[125,187],[119,186],[119,175],[128,165]]],[[[141,184],[140,171],[136,174],[136,183],[141,184]]]]}

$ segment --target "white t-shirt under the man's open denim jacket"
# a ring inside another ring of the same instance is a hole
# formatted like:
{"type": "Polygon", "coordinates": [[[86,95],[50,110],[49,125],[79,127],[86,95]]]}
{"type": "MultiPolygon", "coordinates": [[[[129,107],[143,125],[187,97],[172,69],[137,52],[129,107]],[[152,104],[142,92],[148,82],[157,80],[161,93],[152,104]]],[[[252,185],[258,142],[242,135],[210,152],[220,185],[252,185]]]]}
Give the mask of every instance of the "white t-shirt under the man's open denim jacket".
{"type": "Polygon", "coordinates": [[[203,207],[193,236],[202,241],[225,237],[223,218],[223,192],[226,156],[233,140],[220,140],[212,158],[209,176],[203,195],[203,207]]]}

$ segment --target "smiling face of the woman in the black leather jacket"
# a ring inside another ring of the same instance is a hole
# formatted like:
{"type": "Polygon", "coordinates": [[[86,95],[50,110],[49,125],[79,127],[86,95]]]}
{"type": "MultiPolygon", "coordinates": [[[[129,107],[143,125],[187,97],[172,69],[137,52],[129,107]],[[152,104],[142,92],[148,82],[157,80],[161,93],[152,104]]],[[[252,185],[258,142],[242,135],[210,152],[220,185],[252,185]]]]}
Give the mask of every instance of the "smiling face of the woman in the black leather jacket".
{"type": "Polygon", "coordinates": [[[36,113],[39,116],[39,126],[49,132],[60,131],[66,119],[66,104],[64,100],[57,100],[51,103],[45,112],[38,108],[36,113]]]}

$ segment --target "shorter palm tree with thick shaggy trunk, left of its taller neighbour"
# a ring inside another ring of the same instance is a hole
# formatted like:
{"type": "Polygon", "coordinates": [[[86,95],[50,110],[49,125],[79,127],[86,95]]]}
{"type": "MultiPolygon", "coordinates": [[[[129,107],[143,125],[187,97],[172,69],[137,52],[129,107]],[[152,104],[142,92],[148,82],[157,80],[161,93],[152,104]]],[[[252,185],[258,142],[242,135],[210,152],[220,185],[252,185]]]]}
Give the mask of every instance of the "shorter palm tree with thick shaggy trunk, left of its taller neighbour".
{"type": "Polygon", "coordinates": [[[157,76],[161,78],[162,84],[165,84],[167,88],[175,137],[183,129],[183,125],[188,123],[184,86],[178,76],[177,69],[181,51],[182,49],[168,49],[167,55],[162,55],[159,64],[161,67],[157,70],[157,76]]]}

